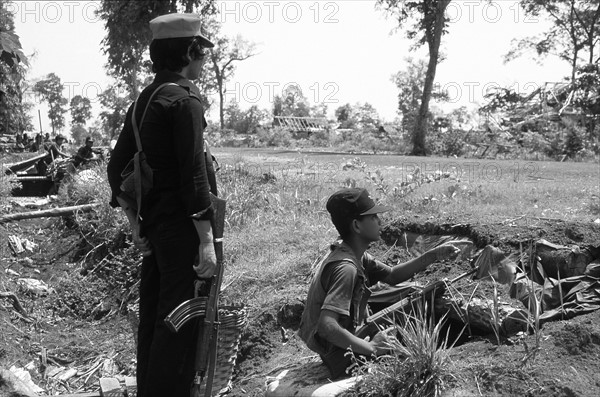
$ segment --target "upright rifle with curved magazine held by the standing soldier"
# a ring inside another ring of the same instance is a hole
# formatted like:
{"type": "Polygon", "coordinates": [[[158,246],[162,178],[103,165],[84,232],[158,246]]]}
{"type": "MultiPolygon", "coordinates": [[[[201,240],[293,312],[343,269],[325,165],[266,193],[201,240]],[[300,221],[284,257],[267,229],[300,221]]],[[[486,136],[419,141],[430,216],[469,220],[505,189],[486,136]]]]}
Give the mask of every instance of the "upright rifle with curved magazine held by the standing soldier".
{"type": "MultiPolygon", "coordinates": [[[[192,397],[199,397],[201,395],[201,387],[205,378],[206,387],[204,396],[211,396],[217,362],[217,340],[220,324],[218,301],[221,282],[223,280],[223,229],[225,228],[226,202],[213,194],[210,195],[210,198],[214,209],[211,226],[215,245],[215,255],[217,257],[215,273],[213,277],[209,279],[210,292],[208,297],[198,296],[181,303],[165,317],[167,327],[173,332],[177,332],[189,320],[198,318],[196,361],[194,363],[196,374],[192,384],[192,397]]],[[[197,285],[197,290],[203,289],[207,282],[208,280],[200,281],[200,283],[203,283],[204,285],[197,285]]]]}

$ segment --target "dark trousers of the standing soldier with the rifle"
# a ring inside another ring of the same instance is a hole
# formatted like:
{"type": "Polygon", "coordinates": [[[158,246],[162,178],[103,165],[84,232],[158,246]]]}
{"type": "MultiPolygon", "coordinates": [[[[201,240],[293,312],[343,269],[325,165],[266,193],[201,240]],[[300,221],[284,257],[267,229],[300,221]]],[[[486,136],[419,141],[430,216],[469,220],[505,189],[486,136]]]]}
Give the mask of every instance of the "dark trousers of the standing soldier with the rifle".
{"type": "Polygon", "coordinates": [[[142,262],[137,386],[139,397],[189,397],[194,377],[194,321],[178,333],[164,319],[194,296],[198,235],[190,218],[145,228],[153,254],[142,262]]]}

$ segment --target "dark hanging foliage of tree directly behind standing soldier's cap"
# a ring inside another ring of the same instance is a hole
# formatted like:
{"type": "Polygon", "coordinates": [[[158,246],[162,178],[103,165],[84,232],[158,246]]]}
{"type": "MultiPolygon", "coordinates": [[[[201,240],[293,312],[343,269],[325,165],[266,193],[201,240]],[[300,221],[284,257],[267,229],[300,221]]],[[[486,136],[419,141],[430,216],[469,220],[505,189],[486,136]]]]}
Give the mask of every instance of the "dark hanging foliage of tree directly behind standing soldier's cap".
{"type": "Polygon", "coordinates": [[[131,100],[139,95],[144,73],[151,71],[146,54],[152,40],[148,23],[177,11],[214,15],[217,8],[214,0],[102,0],[97,14],[106,30],[102,40],[108,57],[106,68],[111,76],[125,82],[131,100]]]}

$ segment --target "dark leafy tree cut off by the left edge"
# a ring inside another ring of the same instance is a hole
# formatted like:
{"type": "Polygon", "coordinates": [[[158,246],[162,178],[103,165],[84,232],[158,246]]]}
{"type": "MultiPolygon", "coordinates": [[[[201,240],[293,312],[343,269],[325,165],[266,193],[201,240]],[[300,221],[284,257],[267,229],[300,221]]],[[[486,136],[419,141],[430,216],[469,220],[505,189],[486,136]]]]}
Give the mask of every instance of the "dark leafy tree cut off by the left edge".
{"type": "Polygon", "coordinates": [[[6,4],[0,0],[0,131],[14,134],[33,128],[29,116],[32,104],[24,100],[28,63],[6,4]]]}

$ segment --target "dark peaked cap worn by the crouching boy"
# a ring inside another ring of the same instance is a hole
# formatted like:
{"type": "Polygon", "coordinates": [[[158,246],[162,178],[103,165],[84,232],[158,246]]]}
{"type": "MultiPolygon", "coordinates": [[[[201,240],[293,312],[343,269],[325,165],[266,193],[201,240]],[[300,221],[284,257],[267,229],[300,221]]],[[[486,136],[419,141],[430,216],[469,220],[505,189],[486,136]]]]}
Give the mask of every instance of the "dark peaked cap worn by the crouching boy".
{"type": "Polygon", "coordinates": [[[362,215],[379,214],[392,208],[375,204],[366,189],[349,188],[335,192],[327,200],[327,211],[332,217],[357,218],[362,215]]]}

